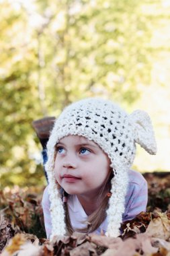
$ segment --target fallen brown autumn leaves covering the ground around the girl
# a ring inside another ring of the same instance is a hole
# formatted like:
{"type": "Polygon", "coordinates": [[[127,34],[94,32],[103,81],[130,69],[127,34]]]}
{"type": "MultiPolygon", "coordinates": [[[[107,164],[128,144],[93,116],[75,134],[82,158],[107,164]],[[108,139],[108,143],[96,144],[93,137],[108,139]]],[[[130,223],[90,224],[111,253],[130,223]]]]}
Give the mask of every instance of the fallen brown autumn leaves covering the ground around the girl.
{"type": "Polygon", "coordinates": [[[75,233],[57,236],[50,242],[44,238],[41,195],[32,191],[1,191],[1,255],[170,256],[170,174],[145,174],[145,178],[147,212],[124,222],[122,236],[118,238],[75,233]]]}

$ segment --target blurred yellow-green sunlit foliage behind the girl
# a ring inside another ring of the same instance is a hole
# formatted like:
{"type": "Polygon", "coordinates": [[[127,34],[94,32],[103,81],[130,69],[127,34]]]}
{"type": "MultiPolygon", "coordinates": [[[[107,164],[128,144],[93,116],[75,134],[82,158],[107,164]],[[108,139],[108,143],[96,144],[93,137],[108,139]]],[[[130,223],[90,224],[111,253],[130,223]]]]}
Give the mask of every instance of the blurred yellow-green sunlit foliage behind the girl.
{"type": "Polygon", "coordinates": [[[89,96],[146,110],[157,156],[134,168],[170,170],[169,0],[0,0],[1,189],[45,185],[32,121],[89,96]]]}

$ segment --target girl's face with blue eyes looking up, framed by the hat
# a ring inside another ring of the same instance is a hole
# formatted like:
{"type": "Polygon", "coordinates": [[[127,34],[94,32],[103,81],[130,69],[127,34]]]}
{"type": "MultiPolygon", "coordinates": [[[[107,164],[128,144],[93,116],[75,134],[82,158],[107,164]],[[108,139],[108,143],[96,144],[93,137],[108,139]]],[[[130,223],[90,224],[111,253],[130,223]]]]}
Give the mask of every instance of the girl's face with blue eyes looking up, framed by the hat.
{"type": "Polygon", "coordinates": [[[69,135],[56,145],[55,178],[70,195],[98,195],[109,170],[108,156],[83,136],[69,135]]]}

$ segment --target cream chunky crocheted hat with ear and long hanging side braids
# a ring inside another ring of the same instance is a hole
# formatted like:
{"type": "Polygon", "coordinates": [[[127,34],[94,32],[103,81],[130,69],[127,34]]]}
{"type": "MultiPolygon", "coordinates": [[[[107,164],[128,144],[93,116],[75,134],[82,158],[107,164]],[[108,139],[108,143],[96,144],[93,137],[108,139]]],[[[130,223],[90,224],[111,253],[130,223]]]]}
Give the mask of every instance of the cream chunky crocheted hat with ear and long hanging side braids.
{"type": "Polygon", "coordinates": [[[100,98],[80,100],[63,110],[54,123],[47,143],[48,161],[45,168],[49,181],[51,239],[55,235],[66,233],[65,211],[54,177],[54,151],[56,143],[67,135],[81,135],[93,140],[111,160],[114,178],[111,181],[112,196],[107,210],[107,235],[116,237],[120,234],[128,170],[136,153],[135,142],[149,154],[157,152],[151,119],[142,110],[136,110],[128,115],[118,105],[100,98]]]}

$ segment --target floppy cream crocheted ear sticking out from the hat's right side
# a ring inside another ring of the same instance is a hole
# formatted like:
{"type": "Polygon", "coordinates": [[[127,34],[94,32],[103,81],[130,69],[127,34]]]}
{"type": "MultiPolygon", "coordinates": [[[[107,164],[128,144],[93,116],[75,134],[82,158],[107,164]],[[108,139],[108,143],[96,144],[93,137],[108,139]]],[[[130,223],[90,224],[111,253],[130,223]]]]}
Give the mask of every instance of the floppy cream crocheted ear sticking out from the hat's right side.
{"type": "Polygon", "coordinates": [[[135,110],[130,114],[130,122],[134,127],[134,141],[146,152],[155,155],[157,153],[157,143],[148,113],[143,110],[135,110]]]}

